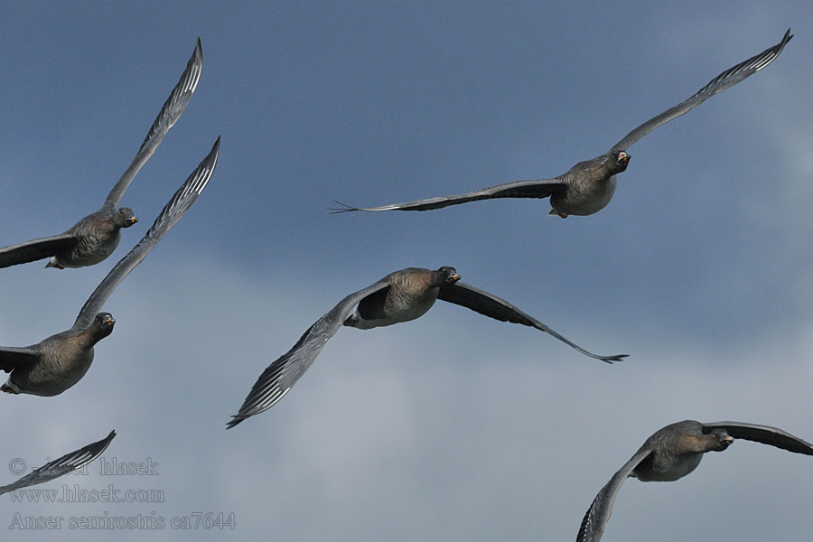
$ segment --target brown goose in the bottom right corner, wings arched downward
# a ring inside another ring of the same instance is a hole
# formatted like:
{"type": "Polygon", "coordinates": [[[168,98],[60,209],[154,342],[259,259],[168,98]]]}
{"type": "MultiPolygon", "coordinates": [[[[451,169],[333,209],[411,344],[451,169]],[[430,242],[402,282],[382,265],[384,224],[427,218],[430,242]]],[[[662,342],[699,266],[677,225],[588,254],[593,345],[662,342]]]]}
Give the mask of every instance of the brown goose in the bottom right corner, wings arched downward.
{"type": "Polygon", "coordinates": [[[584,514],[576,542],[598,542],[612,513],[621,484],[630,477],[640,481],[676,481],[696,469],[706,452],[723,452],[735,438],[771,444],[793,453],[813,455],[813,444],[768,425],[740,422],[701,424],[685,420],[667,425],[650,436],[630,461],[613,474],[584,514]]]}

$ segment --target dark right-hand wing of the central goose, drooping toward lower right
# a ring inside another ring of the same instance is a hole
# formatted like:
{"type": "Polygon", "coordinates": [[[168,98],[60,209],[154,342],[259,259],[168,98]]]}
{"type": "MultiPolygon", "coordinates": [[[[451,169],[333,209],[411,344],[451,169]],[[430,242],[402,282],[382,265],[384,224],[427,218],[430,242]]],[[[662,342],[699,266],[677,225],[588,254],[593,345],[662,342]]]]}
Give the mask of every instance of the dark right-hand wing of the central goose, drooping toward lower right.
{"type": "Polygon", "coordinates": [[[441,286],[440,292],[437,294],[437,298],[448,301],[449,303],[462,305],[477,313],[500,320],[500,322],[521,323],[522,325],[537,328],[537,330],[553,335],[559,341],[565,342],[565,344],[575,348],[575,350],[579,350],[585,356],[590,356],[596,360],[612,363],[613,361],[621,361],[627,357],[627,354],[619,354],[615,356],[597,356],[592,352],[584,350],[574,342],[565,339],[565,337],[553,331],[544,323],[539,322],[532,316],[528,316],[528,314],[523,313],[517,307],[509,304],[509,302],[505,301],[504,299],[501,299],[496,295],[489,294],[488,292],[483,292],[481,289],[475,288],[472,285],[467,285],[463,282],[441,286]]]}

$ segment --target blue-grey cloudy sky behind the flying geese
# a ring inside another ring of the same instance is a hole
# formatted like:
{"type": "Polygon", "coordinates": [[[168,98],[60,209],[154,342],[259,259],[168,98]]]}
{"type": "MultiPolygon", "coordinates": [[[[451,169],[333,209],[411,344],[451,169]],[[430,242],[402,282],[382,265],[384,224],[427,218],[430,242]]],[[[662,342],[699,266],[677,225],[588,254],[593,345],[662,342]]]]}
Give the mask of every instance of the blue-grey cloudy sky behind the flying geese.
{"type": "MultiPolygon", "coordinates": [[[[663,425],[733,419],[813,441],[808,2],[0,14],[0,245],[96,210],[198,36],[204,56],[190,106],[122,201],[141,222],[98,266],[2,270],[0,344],[69,328],[222,135],[206,192],[107,302],[116,330],[85,378],[57,397],[0,397],[0,483],[17,477],[3,458],[40,466],[115,428],[106,464],[157,474],[104,475],[98,461],[37,487],[163,501],[5,495],[0,528],[62,518],[15,534],[68,539],[71,519],[140,516],[164,519],[153,534],[166,540],[568,540],[663,425]],[[634,145],[591,217],[547,217],[533,200],[327,211],[564,173],[788,27],[771,66],[634,145]],[[345,294],[443,265],[588,350],[631,357],[606,365],[440,302],[416,322],[341,330],[277,406],[225,431],[262,369],[345,294]],[[220,512],[236,528],[173,528],[220,512]]],[[[810,457],[740,441],[681,481],[628,481],[603,540],[807,541],[811,487],[810,457]]]]}

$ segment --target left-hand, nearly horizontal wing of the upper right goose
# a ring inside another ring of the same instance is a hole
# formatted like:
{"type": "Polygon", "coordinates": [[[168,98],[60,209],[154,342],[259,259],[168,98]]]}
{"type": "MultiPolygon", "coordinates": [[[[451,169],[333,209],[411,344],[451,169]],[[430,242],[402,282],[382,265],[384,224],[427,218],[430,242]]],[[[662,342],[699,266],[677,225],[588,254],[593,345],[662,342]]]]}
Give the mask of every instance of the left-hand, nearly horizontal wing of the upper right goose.
{"type": "Polygon", "coordinates": [[[469,201],[491,200],[494,198],[547,198],[555,192],[565,190],[565,185],[558,179],[537,179],[536,181],[516,181],[498,184],[474,192],[466,192],[456,196],[442,196],[426,200],[405,201],[380,207],[351,207],[340,201],[342,209],[332,209],[333,213],[350,212],[351,210],[432,210],[441,209],[449,205],[467,203],[469,201]]]}

